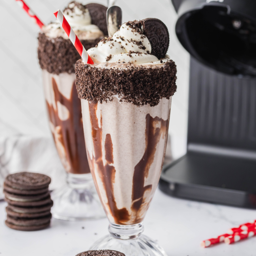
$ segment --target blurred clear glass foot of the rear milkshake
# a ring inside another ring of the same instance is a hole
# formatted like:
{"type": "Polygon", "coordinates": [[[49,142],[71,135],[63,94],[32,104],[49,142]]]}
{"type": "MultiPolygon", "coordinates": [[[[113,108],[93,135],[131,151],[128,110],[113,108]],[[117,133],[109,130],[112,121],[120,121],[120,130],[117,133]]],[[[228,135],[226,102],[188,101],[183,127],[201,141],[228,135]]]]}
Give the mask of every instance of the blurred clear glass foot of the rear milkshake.
{"type": "Polygon", "coordinates": [[[51,193],[52,216],[60,220],[83,221],[106,217],[91,173],[67,174],[67,184],[51,193]]]}

